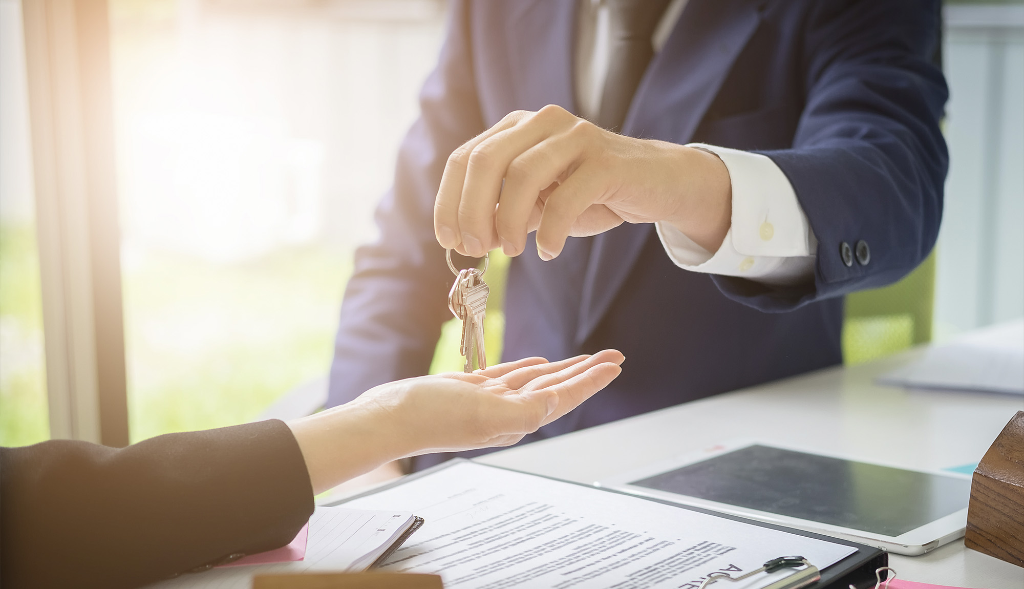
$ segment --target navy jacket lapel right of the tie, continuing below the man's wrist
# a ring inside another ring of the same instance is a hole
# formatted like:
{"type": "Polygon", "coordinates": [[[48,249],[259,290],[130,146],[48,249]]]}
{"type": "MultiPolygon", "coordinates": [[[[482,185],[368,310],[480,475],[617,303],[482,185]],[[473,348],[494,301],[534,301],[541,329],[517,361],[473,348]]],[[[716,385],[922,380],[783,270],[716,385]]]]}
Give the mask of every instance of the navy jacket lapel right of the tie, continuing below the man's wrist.
{"type": "MultiPolygon", "coordinates": [[[[623,125],[624,134],[686,143],[760,23],[750,0],[690,0],[654,56],[623,125]]],[[[571,55],[571,53],[570,53],[571,55]]],[[[575,343],[597,328],[654,227],[623,223],[594,238],[575,343]]]]}

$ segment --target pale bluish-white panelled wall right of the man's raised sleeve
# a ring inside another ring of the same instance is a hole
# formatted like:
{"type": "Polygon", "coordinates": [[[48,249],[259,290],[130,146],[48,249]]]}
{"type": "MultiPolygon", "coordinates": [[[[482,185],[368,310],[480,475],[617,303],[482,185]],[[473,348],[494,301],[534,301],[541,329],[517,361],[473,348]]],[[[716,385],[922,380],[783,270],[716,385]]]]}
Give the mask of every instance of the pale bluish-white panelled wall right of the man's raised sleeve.
{"type": "Polygon", "coordinates": [[[1024,315],[1024,5],[946,9],[939,339],[1024,315]]]}

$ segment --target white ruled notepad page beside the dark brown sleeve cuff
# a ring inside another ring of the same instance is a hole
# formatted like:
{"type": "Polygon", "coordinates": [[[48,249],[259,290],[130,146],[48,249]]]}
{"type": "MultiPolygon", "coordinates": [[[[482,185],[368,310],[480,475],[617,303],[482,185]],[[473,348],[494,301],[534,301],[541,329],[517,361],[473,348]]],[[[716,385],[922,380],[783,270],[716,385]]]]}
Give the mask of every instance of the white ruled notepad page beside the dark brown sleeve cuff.
{"type": "MultiPolygon", "coordinates": [[[[409,527],[413,514],[408,511],[368,511],[344,507],[317,507],[309,518],[309,539],[306,555],[294,562],[254,564],[229,569],[213,569],[185,574],[148,587],[170,589],[249,589],[255,574],[286,574],[311,572],[353,572],[353,566],[371,552],[386,549],[409,527]]],[[[370,562],[372,564],[373,561],[370,562]]]]}

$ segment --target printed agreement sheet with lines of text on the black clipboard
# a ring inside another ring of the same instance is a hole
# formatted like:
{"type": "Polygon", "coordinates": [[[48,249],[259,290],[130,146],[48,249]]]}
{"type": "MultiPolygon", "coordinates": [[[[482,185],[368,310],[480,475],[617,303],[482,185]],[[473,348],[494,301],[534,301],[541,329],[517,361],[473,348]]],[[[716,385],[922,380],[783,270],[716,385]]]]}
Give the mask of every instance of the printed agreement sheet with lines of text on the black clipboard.
{"type": "MultiPolygon", "coordinates": [[[[439,574],[445,589],[696,589],[800,554],[823,569],[854,553],[834,544],[599,489],[462,462],[345,504],[404,509],[426,522],[384,571],[439,574]]],[[[729,589],[760,587],[772,577],[729,589]]]]}

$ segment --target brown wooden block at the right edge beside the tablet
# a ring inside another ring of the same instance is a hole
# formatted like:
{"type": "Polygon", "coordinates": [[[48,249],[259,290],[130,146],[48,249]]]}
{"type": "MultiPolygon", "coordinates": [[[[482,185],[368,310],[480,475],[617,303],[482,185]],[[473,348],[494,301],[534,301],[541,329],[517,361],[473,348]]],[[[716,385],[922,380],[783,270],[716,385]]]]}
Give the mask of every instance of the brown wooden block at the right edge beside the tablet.
{"type": "Polygon", "coordinates": [[[974,471],[964,544],[1024,566],[1024,411],[1002,428],[974,471]]]}

